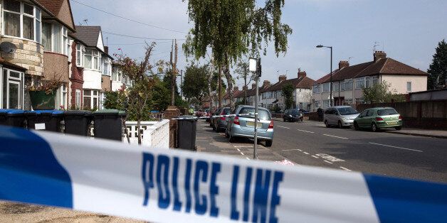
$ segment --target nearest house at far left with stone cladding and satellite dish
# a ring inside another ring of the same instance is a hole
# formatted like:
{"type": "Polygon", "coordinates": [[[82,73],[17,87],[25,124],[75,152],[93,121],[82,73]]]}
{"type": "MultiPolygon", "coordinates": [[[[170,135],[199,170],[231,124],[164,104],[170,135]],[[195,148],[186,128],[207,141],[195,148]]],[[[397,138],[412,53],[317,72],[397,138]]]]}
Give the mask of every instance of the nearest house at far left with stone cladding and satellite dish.
{"type": "Polygon", "coordinates": [[[68,0],[3,0],[0,108],[31,109],[26,86],[57,78],[55,108],[68,105],[68,33],[75,32],[68,0]]]}

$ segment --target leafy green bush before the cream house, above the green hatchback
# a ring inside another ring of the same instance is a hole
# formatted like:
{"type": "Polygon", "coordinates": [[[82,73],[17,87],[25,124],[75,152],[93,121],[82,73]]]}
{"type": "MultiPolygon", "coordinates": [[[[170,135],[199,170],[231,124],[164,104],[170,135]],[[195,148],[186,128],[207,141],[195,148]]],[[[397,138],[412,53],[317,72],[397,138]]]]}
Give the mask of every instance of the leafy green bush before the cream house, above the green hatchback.
{"type": "Polygon", "coordinates": [[[405,97],[401,94],[393,94],[391,92],[391,84],[386,81],[372,85],[371,87],[364,87],[362,89],[363,99],[365,102],[374,103],[390,103],[390,102],[404,102],[405,97]]]}

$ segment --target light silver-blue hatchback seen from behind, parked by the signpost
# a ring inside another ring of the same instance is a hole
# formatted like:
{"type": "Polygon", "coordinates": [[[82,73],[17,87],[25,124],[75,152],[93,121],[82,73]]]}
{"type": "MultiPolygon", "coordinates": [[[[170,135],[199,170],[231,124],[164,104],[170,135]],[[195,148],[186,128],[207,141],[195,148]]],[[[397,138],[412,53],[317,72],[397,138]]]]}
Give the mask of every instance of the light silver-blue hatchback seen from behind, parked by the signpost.
{"type": "MultiPolygon", "coordinates": [[[[239,105],[234,114],[228,119],[225,136],[230,142],[236,138],[254,138],[255,134],[255,107],[239,105]]],[[[273,143],[273,120],[268,109],[258,108],[258,140],[265,141],[265,146],[273,143]]]]}

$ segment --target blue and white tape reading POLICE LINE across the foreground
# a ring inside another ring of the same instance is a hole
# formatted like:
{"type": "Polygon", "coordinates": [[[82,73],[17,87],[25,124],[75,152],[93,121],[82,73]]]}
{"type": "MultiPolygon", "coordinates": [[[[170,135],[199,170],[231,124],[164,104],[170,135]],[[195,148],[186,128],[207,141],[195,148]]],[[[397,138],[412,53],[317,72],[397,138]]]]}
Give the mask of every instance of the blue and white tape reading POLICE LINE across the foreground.
{"type": "Polygon", "coordinates": [[[447,222],[447,185],[0,126],[0,200],[152,222],[447,222]]]}

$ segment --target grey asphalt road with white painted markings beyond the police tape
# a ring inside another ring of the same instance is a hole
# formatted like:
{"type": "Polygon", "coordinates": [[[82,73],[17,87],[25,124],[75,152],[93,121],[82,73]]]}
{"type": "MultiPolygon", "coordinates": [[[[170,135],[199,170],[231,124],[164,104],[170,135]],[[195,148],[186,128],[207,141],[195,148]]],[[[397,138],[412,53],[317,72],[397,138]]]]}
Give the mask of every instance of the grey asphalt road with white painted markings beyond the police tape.
{"type": "MultiPolygon", "coordinates": [[[[228,143],[224,134],[212,131],[205,121],[198,124],[197,143],[202,151],[253,156],[253,141],[228,143]]],[[[327,129],[316,121],[275,121],[274,129],[273,146],[260,145],[262,159],[447,183],[446,138],[327,129]]]]}

